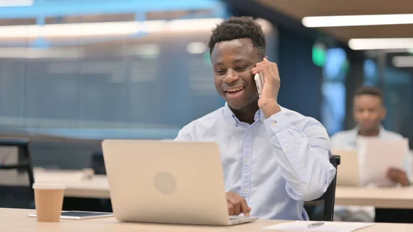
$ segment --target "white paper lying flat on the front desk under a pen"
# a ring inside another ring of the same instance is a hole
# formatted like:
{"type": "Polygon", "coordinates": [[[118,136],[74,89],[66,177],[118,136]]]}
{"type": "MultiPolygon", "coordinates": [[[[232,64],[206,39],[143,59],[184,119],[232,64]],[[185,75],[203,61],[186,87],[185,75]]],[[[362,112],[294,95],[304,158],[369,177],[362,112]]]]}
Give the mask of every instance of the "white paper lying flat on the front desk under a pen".
{"type": "Polygon", "coordinates": [[[314,222],[310,221],[295,221],[295,222],[283,222],[274,224],[272,226],[265,226],[262,229],[275,230],[275,231],[332,231],[332,232],[351,232],[357,231],[368,226],[372,226],[374,223],[366,222],[324,222],[322,226],[308,228],[309,224],[314,222]]]}

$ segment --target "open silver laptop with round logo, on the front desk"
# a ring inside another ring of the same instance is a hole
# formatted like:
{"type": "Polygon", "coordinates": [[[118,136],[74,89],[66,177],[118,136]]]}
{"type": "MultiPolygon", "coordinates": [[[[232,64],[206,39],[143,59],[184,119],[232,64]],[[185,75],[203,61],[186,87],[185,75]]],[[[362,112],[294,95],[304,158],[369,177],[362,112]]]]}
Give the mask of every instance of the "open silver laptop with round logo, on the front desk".
{"type": "Polygon", "coordinates": [[[233,225],[215,143],[103,140],[114,216],[125,222],[233,225]]]}

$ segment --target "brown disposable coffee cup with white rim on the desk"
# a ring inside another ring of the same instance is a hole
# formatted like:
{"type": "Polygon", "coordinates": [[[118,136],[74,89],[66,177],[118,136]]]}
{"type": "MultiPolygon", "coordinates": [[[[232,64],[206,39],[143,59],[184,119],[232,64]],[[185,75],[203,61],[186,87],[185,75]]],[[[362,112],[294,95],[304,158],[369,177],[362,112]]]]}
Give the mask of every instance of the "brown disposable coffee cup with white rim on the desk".
{"type": "Polygon", "coordinates": [[[59,222],[65,196],[61,182],[35,182],[34,204],[38,222],[59,222]]]}

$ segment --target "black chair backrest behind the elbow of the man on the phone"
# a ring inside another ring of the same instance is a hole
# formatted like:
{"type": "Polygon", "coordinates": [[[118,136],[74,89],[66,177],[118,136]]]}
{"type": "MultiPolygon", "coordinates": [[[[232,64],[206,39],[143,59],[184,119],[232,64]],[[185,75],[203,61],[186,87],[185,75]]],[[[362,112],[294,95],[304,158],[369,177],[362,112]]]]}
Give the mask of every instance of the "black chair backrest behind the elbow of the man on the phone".
{"type": "MultiPolygon", "coordinates": [[[[335,169],[338,171],[337,167],[340,165],[341,158],[340,156],[331,156],[330,163],[335,169]]],[[[335,174],[334,179],[332,179],[330,185],[328,186],[327,191],[321,196],[320,198],[314,200],[324,201],[324,213],[323,213],[323,220],[324,221],[332,221],[334,216],[334,204],[335,204],[335,189],[336,189],[336,182],[337,182],[337,171],[335,174]]]]}

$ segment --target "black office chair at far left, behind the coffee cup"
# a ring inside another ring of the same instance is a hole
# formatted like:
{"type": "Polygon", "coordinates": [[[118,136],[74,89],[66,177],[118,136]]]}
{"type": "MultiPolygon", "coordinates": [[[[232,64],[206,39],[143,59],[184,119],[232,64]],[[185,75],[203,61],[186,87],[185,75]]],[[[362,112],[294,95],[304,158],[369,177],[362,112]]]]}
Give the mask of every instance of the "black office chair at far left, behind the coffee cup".
{"type": "MultiPolygon", "coordinates": [[[[0,146],[2,147],[17,147],[19,149],[19,161],[17,164],[12,164],[12,165],[1,165],[0,164],[0,170],[10,170],[10,169],[17,169],[19,173],[23,171],[28,172],[28,177],[29,177],[29,188],[27,187],[12,187],[12,186],[6,186],[3,187],[3,190],[1,191],[2,193],[6,193],[9,191],[12,191],[10,194],[14,196],[14,198],[19,198],[19,196],[26,196],[27,192],[29,193],[30,196],[28,196],[29,202],[28,204],[30,205],[25,205],[22,199],[17,200],[17,203],[19,204],[24,204],[22,206],[23,208],[32,208],[34,204],[34,191],[32,189],[33,183],[34,183],[34,174],[33,174],[33,167],[32,167],[32,157],[30,156],[30,151],[29,151],[29,141],[24,138],[0,138],[0,146]],[[21,155],[23,158],[21,158],[21,155]]],[[[8,202],[10,204],[13,204],[12,202],[8,202]]],[[[18,207],[21,208],[21,207],[18,207]]]]}

